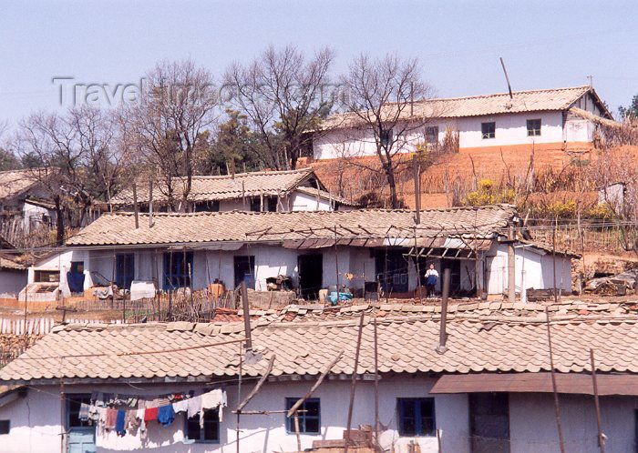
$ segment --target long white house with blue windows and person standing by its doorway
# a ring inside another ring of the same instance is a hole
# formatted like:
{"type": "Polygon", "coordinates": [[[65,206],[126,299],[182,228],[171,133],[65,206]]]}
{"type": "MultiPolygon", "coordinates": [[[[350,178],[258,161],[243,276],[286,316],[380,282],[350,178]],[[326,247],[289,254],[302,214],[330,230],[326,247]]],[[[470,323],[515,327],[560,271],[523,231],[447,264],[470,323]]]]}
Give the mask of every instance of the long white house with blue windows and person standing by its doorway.
{"type": "Polygon", "coordinates": [[[283,275],[304,298],[337,284],[363,292],[376,282],[392,297],[414,297],[434,264],[451,269],[454,294],[475,294],[477,282],[480,292],[501,294],[512,246],[518,291],[523,269],[526,287],[571,291],[571,254],[506,240],[509,226],[518,226],[513,206],[425,210],[418,225],[414,216],[384,209],[160,213],[140,214],[136,227],[132,213],[105,214],[30,267],[29,284],[56,281],[63,296],[105,279],[160,290],[199,290],[214,280],[232,289],[245,281],[265,291],[269,277],[283,275]]]}

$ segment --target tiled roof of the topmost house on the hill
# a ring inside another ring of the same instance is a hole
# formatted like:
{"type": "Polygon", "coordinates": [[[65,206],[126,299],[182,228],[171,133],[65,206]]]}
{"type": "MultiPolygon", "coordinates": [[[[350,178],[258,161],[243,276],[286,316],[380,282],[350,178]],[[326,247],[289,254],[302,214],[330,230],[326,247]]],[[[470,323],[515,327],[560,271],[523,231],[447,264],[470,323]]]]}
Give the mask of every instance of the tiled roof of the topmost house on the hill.
{"type": "MultiPolygon", "coordinates": [[[[509,93],[494,95],[451,97],[416,101],[410,112],[405,109],[402,116],[407,117],[462,117],[486,116],[509,113],[562,111],[568,109],[584,94],[592,92],[595,99],[599,99],[591,86],[575,86],[570,88],[553,88],[544,90],[514,91],[512,98],[509,93]]],[[[601,108],[605,108],[602,106],[601,108]]],[[[396,105],[387,104],[387,117],[396,116],[396,105]]],[[[607,115],[609,115],[607,113],[607,115]]],[[[355,126],[358,120],[353,114],[330,116],[324,128],[355,126]]]]}

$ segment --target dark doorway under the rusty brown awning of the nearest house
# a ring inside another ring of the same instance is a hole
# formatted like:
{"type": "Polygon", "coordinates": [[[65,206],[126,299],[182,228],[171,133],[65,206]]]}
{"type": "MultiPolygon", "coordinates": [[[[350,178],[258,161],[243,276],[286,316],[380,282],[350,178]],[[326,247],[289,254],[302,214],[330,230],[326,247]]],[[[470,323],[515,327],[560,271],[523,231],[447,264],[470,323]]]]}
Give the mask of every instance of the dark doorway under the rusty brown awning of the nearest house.
{"type": "Polygon", "coordinates": [[[472,453],[509,453],[509,394],[470,393],[472,453]]]}

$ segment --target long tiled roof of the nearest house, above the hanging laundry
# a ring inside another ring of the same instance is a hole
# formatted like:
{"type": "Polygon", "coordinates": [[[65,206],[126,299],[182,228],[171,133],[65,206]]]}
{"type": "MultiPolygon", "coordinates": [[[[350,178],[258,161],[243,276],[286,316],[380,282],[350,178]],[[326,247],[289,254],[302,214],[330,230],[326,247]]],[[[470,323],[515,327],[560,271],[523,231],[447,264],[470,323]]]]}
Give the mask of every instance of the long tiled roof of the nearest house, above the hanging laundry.
{"type": "MultiPolygon", "coordinates": [[[[511,321],[478,318],[448,320],[447,350],[435,351],[439,319],[378,319],[378,362],[382,373],[539,372],[550,370],[544,319],[511,321]]],[[[353,372],[358,319],[343,321],[252,322],[252,342],[262,359],[243,365],[248,376],[260,375],[276,355],[273,376],[312,375],[344,350],[334,374],[353,372]],[[318,347],[319,346],[319,347],[318,347]]],[[[374,372],[374,334],[365,318],[360,373],[374,372]]],[[[239,323],[176,322],[137,325],[56,327],[22,356],[0,370],[0,381],[91,378],[179,380],[233,377],[238,373],[239,323]]],[[[590,348],[600,372],[638,373],[638,317],[574,317],[551,323],[555,367],[559,372],[589,371],[590,348]]],[[[43,382],[44,383],[44,382],[43,382]]]]}

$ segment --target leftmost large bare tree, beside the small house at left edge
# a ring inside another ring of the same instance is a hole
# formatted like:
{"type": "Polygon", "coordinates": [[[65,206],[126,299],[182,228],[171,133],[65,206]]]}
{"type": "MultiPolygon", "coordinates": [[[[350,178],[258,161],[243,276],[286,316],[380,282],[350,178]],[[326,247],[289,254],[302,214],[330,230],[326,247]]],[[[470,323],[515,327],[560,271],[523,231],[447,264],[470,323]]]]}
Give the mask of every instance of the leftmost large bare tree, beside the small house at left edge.
{"type": "Polygon", "coordinates": [[[20,122],[15,154],[55,205],[58,244],[65,228],[86,225],[89,209],[118,184],[115,134],[110,116],[89,106],[66,115],[40,112],[20,122]]]}

